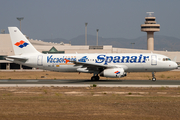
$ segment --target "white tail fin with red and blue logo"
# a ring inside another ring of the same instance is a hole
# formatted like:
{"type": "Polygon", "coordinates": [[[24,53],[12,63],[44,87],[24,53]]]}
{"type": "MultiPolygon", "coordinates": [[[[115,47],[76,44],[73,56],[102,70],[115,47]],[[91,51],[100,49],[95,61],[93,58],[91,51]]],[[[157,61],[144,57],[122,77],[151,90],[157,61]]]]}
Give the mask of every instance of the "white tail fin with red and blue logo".
{"type": "Polygon", "coordinates": [[[15,55],[39,53],[17,27],[8,27],[15,55]]]}

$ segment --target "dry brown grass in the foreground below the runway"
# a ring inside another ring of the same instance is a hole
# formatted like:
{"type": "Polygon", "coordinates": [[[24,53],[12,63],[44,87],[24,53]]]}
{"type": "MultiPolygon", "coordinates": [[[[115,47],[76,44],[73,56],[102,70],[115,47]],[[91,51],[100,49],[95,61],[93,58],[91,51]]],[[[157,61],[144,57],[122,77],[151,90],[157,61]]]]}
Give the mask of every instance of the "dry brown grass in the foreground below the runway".
{"type": "Polygon", "coordinates": [[[177,119],[180,88],[0,88],[1,119],[177,119]],[[165,89],[164,89],[165,88],[165,89]],[[45,94],[48,91],[48,94],[45,94]],[[82,94],[66,94],[67,92],[82,94]],[[105,94],[104,91],[111,91],[105,94]],[[132,93],[149,92],[134,96],[132,93]],[[100,96],[99,92],[102,92],[100,96]],[[116,93],[117,92],[117,93],[116,93]],[[118,94],[118,92],[128,92],[118,94]]]}

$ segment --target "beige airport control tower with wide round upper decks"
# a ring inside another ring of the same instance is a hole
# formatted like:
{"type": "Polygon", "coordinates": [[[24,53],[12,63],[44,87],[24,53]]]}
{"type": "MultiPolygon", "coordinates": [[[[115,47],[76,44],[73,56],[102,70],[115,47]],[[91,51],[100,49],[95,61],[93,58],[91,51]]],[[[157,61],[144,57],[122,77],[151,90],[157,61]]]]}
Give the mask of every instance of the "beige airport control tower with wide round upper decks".
{"type": "Polygon", "coordinates": [[[147,50],[154,50],[154,32],[160,31],[160,24],[156,24],[154,12],[147,12],[144,24],[141,25],[141,31],[147,32],[147,50]]]}

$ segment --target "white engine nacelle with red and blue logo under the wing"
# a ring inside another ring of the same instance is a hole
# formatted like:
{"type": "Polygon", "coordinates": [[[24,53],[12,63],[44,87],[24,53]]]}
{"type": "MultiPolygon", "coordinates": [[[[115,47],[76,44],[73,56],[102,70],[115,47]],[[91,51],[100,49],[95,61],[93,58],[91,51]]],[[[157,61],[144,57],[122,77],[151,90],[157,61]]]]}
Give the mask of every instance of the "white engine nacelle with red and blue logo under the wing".
{"type": "Polygon", "coordinates": [[[109,68],[105,69],[100,73],[100,76],[111,77],[111,78],[120,78],[126,76],[123,68],[109,68]]]}

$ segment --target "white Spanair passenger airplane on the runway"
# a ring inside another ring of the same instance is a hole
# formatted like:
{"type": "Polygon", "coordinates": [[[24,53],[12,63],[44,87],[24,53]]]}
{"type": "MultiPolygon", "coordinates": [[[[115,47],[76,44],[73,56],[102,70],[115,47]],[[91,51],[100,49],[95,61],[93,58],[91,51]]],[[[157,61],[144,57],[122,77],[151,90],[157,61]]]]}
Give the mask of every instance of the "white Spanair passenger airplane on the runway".
{"type": "Polygon", "coordinates": [[[43,54],[38,52],[17,27],[8,27],[15,55],[6,60],[25,66],[57,72],[93,73],[91,80],[100,77],[121,78],[127,72],[155,72],[177,69],[176,62],[154,53],[108,54],[43,54]]]}

